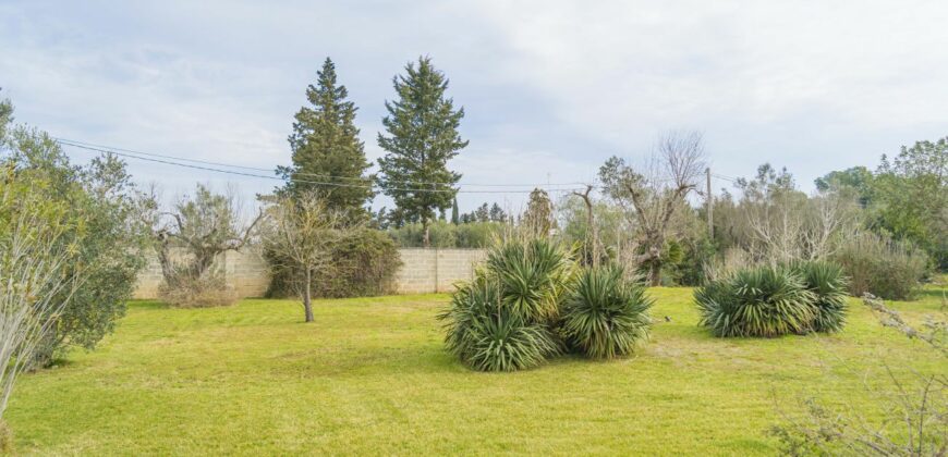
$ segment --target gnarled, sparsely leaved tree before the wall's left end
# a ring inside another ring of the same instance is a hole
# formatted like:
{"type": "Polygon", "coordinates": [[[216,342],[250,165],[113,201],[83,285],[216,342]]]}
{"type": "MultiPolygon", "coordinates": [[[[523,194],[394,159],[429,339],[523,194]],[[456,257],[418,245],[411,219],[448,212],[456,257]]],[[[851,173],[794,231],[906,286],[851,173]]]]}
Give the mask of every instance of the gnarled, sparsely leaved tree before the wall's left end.
{"type": "Polygon", "coordinates": [[[178,306],[232,302],[227,285],[210,271],[215,260],[229,250],[240,250],[250,240],[263,213],[244,225],[232,194],[214,194],[198,184],[193,198],[182,198],[171,212],[156,220],[155,239],[161,273],[162,296],[178,306]],[[170,222],[168,221],[170,219],[170,222]],[[173,246],[184,249],[175,257],[173,246]]]}

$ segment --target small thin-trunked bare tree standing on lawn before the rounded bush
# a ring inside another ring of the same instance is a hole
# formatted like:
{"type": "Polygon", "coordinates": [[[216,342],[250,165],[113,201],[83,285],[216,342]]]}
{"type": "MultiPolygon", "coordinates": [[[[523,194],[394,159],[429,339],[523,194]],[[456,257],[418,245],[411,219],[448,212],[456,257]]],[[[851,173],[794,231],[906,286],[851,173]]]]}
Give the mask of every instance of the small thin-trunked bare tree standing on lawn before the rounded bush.
{"type": "Polygon", "coordinates": [[[274,258],[281,260],[272,267],[289,273],[303,300],[306,322],[313,322],[313,277],[319,270],[338,268],[335,247],[355,227],[344,225],[345,214],[328,208],[315,194],[282,198],[270,208],[269,215],[264,243],[274,258]]]}

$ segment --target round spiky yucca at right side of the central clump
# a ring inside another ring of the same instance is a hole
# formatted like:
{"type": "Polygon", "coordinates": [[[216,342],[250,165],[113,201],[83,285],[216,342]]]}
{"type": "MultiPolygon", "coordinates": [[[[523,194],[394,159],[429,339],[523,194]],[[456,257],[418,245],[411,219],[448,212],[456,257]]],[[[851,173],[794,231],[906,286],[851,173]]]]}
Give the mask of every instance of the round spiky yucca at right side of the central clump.
{"type": "Polygon", "coordinates": [[[563,305],[561,329],[588,357],[622,357],[648,339],[649,307],[645,286],[627,280],[622,268],[588,269],[563,305]]]}

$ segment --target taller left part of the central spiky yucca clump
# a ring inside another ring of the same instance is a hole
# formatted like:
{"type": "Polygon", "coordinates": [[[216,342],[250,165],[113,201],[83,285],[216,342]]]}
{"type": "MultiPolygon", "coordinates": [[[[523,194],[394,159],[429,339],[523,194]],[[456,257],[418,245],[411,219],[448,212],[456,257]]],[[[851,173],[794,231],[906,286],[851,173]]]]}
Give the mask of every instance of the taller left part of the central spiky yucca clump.
{"type": "Polygon", "coordinates": [[[562,347],[554,326],[574,275],[572,254],[555,242],[498,243],[475,279],[459,285],[438,316],[448,350],[481,371],[543,363],[562,347]]]}

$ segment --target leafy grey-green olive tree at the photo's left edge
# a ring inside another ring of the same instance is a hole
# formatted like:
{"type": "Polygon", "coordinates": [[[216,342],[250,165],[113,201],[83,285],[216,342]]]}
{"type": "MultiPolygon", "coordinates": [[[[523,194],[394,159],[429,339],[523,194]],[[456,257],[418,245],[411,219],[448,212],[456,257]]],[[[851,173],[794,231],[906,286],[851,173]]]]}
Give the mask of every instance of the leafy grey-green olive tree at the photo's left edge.
{"type": "MultiPolygon", "coordinates": [[[[9,122],[12,108],[9,102],[0,104],[7,106],[0,109],[0,123],[9,122]]],[[[32,196],[83,215],[83,233],[78,227],[69,230],[60,243],[72,243],[76,254],[64,274],[82,268],[85,280],[70,292],[68,306],[59,310],[56,325],[34,353],[34,361],[42,366],[69,347],[94,349],[124,314],[145,265],[146,200],[131,182],[125,164],[114,156],[75,165],[45,132],[4,125],[3,133],[0,163],[11,168],[21,182],[32,183],[32,196]],[[82,243],[73,243],[80,236],[82,243]]],[[[65,301],[64,297],[57,300],[65,301]]]]}

